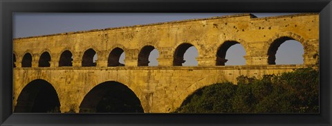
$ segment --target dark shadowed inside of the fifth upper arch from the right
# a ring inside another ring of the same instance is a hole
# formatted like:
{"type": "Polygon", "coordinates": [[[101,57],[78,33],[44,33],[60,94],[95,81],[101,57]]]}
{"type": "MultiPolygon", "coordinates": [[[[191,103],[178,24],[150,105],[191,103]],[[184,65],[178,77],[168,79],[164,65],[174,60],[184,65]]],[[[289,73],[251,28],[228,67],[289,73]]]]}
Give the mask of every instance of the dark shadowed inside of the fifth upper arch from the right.
{"type": "Polygon", "coordinates": [[[124,55],[122,48],[114,48],[111,53],[109,53],[109,60],[107,66],[124,66],[124,63],[120,62],[121,55],[124,55]]]}

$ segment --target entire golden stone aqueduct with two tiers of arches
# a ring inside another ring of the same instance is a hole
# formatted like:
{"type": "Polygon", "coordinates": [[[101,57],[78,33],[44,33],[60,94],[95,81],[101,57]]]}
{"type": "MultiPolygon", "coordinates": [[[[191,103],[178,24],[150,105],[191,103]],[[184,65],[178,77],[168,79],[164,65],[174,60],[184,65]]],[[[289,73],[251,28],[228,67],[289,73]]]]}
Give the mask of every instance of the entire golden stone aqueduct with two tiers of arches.
{"type": "Polygon", "coordinates": [[[209,84],[317,64],[319,15],[190,19],[17,38],[13,46],[13,111],[32,111],[35,93],[46,87],[57,94],[62,112],[93,111],[105,88],[86,100],[89,91],[103,82],[120,82],[135,93],[145,112],[163,113],[174,111],[196,89],[209,84]],[[304,47],[304,64],[275,65],[275,53],[288,39],[304,47]],[[246,65],[224,66],[226,52],[234,44],[245,49],[246,65]],[[198,66],[181,66],[190,46],[199,52],[198,66]],[[154,48],[159,52],[158,66],[147,66],[154,48]],[[124,65],[118,62],[122,52],[124,65]],[[29,86],[35,80],[51,86],[29,86]]]}

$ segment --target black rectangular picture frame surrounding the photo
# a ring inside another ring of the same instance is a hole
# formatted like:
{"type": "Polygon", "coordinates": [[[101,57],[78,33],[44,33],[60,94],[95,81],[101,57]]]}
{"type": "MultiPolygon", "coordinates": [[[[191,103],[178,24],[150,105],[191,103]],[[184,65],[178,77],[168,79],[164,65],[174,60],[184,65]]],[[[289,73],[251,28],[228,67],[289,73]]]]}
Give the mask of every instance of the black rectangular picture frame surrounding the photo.
{"type": "Polygon", "coordinates": [[[331,125],[331,0],[0,0],[0,125],[331,125]],[[13,12],[320,12],[320,114],[12,114],[13,12]]]}

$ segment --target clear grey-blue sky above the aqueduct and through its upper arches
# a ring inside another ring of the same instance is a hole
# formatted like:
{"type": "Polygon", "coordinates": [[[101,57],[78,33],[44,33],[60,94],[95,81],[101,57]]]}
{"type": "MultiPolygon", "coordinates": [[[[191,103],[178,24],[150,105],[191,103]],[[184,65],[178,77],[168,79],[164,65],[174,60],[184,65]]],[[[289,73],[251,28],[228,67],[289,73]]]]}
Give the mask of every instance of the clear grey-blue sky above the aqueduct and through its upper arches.
{"type": "MultiPolygon", "coordinates": [[[[138,24],[151,24],[183,19],[197,19],[234,15],[237,13],[15,13],[13,19],[13,37],[30,37],[55,33],[75,32],[79,30],[104,29],[138,24]]],[[[257,17],[289,15],[290,13],[252,13],[257,17]]],[[[276,64],[303,64],[303,46],[299,42],[288,40],[282,44],[276,54],[276,64]]],[[[246,52],[241,44],[231,46],[225,65],[245,64],[246,52]]],[[[120,57],[123,64],[125,54],[120,57]]],[[[196,66],[198,56],[194,46],[185,53],[183,66],[196,66]]],[[[149,56],[149,66],[157,66],[158,51],[149,56]]],[[[96,58],[96,57],[95,57],[96,58]]]]}

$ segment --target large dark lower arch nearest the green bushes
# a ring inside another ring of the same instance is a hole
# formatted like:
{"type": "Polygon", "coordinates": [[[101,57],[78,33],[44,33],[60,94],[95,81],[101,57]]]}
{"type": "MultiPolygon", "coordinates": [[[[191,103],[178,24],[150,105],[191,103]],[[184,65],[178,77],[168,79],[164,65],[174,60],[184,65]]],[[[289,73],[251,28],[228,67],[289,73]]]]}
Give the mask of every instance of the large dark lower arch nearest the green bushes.
{"type": "Polygon", "coordinates": [[[143,113],[136,94],[120,82],[103,82],[93,87],[80,105],[80,113],[143,113]]]}

